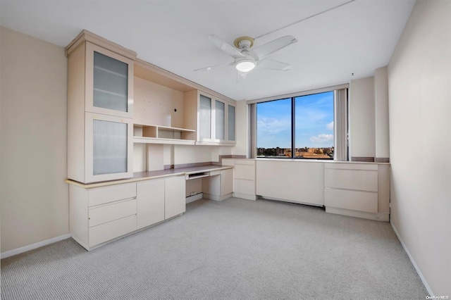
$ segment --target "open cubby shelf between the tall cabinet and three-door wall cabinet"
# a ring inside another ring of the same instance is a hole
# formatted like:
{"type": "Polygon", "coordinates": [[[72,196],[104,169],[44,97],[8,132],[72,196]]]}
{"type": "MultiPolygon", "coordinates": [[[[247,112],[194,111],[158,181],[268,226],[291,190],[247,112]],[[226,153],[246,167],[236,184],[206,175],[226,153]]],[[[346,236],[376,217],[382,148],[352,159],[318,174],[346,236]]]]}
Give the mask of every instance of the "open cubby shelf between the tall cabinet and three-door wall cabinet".
{"type": "Polygon", "coordinates": [[[162,125],[133,125],[133,142],[145,144],[194,145],[196,130],[162,125]]]}

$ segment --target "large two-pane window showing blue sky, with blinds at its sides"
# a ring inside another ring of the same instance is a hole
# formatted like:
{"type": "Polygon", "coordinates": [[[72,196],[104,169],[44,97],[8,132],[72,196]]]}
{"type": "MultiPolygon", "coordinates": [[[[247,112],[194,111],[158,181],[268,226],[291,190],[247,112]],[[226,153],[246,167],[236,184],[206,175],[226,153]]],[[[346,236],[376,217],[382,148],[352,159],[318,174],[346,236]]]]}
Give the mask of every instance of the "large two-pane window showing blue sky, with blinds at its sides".
{"type": "Polygon", "coordinates": [[[253,105],[253,157],[347,159],[347,89],[299,93],[253,105]]]}

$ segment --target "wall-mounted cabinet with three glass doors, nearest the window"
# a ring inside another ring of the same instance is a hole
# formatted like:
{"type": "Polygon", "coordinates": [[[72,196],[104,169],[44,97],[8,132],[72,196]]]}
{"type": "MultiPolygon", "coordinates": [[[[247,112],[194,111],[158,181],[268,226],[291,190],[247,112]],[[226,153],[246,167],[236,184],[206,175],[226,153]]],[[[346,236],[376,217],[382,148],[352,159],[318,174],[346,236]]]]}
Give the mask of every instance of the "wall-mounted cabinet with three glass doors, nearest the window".
{"type": "Polygon", "coordinates": [[[185,92],[184,101],[184,127],[196,130],[197,144],[236,144],[233,100],[193,90],[185,92]]]}

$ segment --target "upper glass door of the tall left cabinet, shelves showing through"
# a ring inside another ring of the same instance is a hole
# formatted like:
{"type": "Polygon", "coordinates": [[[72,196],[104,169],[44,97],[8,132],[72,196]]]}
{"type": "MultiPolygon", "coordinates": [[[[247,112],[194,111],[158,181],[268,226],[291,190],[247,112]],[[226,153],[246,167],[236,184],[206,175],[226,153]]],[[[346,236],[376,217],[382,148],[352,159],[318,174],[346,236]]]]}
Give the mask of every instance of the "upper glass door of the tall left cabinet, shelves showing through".
{"type": "Polygon", "coordinates": [[[132,60],[86,44],[86,111],[132,118],[132,60]]]}

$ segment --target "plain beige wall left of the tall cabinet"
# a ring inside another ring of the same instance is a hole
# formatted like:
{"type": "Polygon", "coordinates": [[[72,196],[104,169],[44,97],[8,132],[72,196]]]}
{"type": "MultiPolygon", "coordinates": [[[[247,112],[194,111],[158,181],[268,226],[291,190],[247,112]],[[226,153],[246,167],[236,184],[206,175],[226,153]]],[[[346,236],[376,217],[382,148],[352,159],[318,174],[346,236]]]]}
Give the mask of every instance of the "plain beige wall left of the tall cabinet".
{"type": "Polygon", "coordinates": [[[1,252],[68,234],[67,59],[1,27],[1,252]]]}

